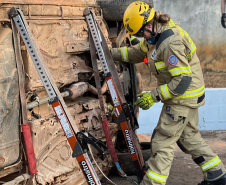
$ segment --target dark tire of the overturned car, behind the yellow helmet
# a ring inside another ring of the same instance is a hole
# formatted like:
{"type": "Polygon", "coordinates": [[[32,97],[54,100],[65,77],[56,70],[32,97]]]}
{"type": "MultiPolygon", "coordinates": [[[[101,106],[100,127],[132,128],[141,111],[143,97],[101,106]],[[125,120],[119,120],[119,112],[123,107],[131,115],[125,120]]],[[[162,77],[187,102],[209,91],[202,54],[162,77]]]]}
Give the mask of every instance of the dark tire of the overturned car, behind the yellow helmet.
{"type": "MultiPolygon", "coordinates": [[[[141,1],[153,6],[153,0],[141,1]]],[[[126,8],[132,2],[134,2],[134,0],[97,0],[97,4],[100,5],[101,9],[103,10],[104,19],[107,21],[122,21],[126,8]]]]}

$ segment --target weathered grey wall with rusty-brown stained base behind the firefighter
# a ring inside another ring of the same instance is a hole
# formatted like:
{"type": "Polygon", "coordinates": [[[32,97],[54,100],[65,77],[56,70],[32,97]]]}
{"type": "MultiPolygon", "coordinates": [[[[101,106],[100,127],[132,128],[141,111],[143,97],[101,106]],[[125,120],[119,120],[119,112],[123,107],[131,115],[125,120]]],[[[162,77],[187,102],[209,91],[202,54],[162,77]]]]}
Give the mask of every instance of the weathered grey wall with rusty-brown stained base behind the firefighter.
{"type": "Polygon", "coordinates": [[[155,10],[171,16],[188,32],[204,72],[226,72],[226,29],[221,0],[154,0],[155,10]]]}

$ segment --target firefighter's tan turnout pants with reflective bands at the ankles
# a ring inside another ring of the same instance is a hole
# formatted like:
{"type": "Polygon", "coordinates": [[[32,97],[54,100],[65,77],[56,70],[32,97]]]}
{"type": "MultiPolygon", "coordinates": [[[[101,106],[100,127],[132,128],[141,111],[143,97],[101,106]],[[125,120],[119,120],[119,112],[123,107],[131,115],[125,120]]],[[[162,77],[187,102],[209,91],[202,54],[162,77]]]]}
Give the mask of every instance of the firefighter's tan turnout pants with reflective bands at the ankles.
{"type": "Polygon", "coordinates": [[[175,144],[191,154],[203,171],[204,179],[214,181],[226,173],[220,158],[213,153],[198,130],[198,109],[164,105],[151,140],[149,169],[141,185],[166,184],[174,157],[175,144]]]}

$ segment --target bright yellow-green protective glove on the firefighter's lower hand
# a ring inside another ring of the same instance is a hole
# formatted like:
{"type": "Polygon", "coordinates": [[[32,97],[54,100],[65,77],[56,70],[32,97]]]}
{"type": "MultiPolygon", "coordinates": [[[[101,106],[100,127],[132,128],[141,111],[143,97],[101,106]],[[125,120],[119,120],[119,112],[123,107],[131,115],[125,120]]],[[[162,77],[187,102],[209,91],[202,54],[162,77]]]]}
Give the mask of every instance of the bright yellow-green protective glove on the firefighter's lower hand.
{"type": "Polygon", "coordinates": [[[144,93],[138,94],[137,96],[140,97],[140,99],[137,100],[134,103],[134,105],[137,105],[143,110],[148,110],[155,103],[155,101],[151,96],[151,92],[144,92],[144,93]]]}

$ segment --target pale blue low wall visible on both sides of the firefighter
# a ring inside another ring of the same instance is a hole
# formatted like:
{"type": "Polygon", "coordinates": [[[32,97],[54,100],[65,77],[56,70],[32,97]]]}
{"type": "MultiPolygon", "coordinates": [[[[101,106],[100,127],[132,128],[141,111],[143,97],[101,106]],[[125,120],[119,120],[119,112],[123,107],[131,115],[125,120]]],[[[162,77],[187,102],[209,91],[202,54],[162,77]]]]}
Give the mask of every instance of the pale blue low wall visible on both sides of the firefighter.
{"type": "MultiPolygon", "coordinates": [[[[149,110],[140,109],[137,133],[150,134],[158,123],[162,103],[149,110]]],[[[206,89],[206,103],[199,108],[200,130],[226,130],[226,88],[206,89]]]]}

